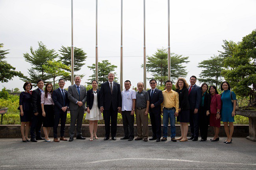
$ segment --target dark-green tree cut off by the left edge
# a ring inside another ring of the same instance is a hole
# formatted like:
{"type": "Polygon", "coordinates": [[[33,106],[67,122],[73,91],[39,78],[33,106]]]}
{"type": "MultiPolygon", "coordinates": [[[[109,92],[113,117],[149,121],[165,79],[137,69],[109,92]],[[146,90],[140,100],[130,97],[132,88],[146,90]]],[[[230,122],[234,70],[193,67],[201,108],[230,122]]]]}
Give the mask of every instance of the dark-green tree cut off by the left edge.
{"type": "Polygon", "coordinates": [[[19,76],[22,77],[23,74],[20,71],[15,71],[15,67],[11,66],[11,64],[8,64],[4,58],[6,58],[6,54],[9,54],[7,50],[3,50],[4,44],[0,44],[0,82],[8,82],[9,80],[12,80],[13,77],[19,76]]]}

